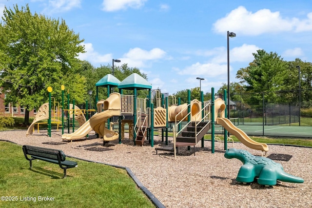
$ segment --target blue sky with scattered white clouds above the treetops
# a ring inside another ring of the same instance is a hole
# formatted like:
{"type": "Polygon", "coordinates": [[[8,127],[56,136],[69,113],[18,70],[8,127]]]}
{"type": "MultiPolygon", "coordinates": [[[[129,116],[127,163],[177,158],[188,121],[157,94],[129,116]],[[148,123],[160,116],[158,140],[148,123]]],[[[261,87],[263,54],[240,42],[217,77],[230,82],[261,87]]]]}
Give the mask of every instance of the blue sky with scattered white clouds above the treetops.
{"type": "Polygon", "coordinates": [[[227,31],[236,33],[230,82],[258,49],[312,62],[311,0],[0,0],[0,10],[16,3],[65,20],[84,39],[80,59],[96,67],[119,59],[162,93],[197,87],[196,77],[204,93],[227,83],[227,31]]]}

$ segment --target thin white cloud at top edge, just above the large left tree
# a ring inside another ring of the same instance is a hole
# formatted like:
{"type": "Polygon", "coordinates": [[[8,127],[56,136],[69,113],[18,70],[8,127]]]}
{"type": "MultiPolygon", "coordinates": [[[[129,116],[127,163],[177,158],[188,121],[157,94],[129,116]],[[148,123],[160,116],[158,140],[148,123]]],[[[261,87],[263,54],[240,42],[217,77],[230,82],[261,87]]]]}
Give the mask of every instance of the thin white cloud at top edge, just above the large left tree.
{"type": "Polygon", "coordinates": [[[76,7],[81,7],[81,0],[49,0],[47,7],[42,13],[51,14],[67,12],[76,7]]]}

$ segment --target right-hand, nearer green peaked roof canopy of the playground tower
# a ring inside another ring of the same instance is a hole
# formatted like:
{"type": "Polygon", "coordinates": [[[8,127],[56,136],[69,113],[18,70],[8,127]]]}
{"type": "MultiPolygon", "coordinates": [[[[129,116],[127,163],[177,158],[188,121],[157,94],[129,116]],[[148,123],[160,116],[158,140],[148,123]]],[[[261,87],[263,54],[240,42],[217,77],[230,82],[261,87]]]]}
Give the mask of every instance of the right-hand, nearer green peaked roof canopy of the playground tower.
{"type": "Polygon", "coordinates": [[[121,83],[118,84],[118,89],[152,89],[152,84],[147,82],[137,73],[129,75],[121,83]]]}

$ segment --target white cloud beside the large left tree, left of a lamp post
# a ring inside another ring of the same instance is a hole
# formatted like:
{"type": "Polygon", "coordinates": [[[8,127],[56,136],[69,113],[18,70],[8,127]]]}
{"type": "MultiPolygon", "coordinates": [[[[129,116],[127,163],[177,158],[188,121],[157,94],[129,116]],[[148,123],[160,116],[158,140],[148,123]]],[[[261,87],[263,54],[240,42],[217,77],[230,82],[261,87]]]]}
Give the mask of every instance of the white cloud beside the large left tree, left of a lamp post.
{"type": "Polygon", "coordinates": [[[112,62],[112,54],[100,55],[98,52],[94,51],[92,43],[82,42],[81,45],[84,45],[86,53],[79,53],[78,58],[80,60],[86,60],[92,64],[112,62]]]}

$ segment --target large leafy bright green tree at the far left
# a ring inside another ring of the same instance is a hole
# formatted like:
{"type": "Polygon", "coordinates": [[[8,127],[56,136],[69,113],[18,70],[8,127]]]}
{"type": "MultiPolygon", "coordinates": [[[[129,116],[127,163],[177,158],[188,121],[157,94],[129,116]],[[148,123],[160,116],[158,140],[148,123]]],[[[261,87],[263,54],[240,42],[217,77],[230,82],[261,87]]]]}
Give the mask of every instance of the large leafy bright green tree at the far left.
{"type": "Polygon", "coordinates": [[[77,72],[84,52],[79,35],[64,20],[31,14],[28,4],[14,10],[4,8],[0,25],[0,86],[8,92],[5,102],[26,109],[24,124],[29,124],[29,110],[47,102],[47,87],[52,96],[61,98],[61,84],[82,102],[85,78],[77,72]]]}

